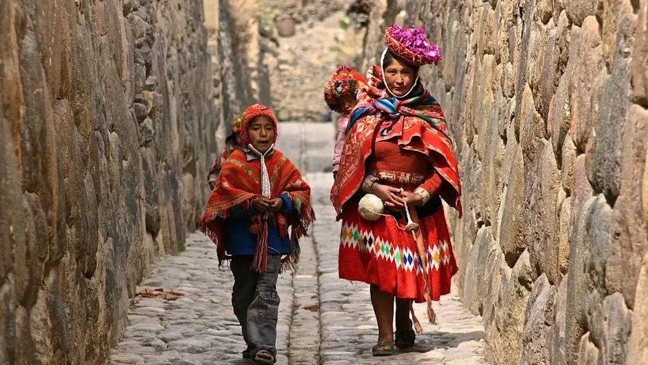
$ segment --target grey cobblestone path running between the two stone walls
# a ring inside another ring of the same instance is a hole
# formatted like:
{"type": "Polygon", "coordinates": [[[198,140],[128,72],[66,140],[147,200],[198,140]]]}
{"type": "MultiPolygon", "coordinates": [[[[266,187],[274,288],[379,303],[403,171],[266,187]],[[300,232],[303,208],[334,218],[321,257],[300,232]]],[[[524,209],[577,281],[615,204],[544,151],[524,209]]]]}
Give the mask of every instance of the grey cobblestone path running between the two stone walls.
{"type": "MultiPolygon", "coordinates": [[[[369,288],[338,279],[340,226],[328,199],[332,174],[321,172],[330,164],[333,128],[284,123],[279,132],[279,149],[312,186],[318,220],[302,242],[295,273],[279,279],[277,364],[487,364],[480,319],[465,312],[454,295],[434,304],[439,324],[424,322],[425,333],[412,351],[372,357],[378,330],[369,288]]],[[[207,237],[188,235],[186,246],[181,255],[155,264],[139,288],[163,287],[184,295],[172,301],[136,299],[111,365],[252,364],[241,358],[245,345],[232,311],[230,271],[218,268],[216,249],[207,237]]],[[[425,305],[415,308],[425,319],[425,305]]]]}

